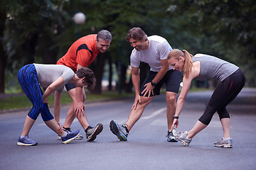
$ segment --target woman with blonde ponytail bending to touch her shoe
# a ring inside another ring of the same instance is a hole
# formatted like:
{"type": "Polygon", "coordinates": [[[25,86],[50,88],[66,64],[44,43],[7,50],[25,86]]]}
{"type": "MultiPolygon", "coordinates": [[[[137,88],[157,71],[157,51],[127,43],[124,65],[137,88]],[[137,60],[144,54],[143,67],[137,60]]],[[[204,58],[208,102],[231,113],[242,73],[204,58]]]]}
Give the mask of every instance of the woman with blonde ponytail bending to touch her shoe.
{"type": "Polygon", "coordinates": [[[171,130],[177,140],[188,146],[192,138],[201,130],[206,128],[213,118],[215,112],[218,113],[220,123],[223,126],[223,137],[214,143],[215,147],[233,147],[233,140],[230,137],[230,115],[226,106],[235,99],[245,85],[245,75],[235,64],[220,60],[210,55],[196,54],[191,55],[186,50],[172,50],[167,60],[173,69],[184,72],[183,87],[178,96],[174,122],[171,130]],[[191,87],[193,79],[206,80],[218,79],[220,84],[216,87],[210,98],[206,110],[196,125],[191,130],[178,132],[178,115],[180,115],[185,103],[186,95],[191,87]]]}

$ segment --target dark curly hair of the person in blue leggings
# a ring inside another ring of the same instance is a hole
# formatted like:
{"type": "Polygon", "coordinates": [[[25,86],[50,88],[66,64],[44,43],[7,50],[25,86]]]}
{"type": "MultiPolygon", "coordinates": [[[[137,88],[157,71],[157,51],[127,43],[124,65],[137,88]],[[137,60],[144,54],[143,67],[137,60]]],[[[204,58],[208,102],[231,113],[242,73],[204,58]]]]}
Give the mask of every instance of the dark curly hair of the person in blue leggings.
{"type": "Polygon", "coordinates": [[[85,79],[82,81],[83,83],[87,83],[87,90],[92,91],[95,89],[95,84],[96,84],[96,78],[95,74],[92,72],[91,69],[87,67],[82,67],[82,69],[78,69],[77,72],[75,72],[79,78],[84,78],[85,79]]]}

